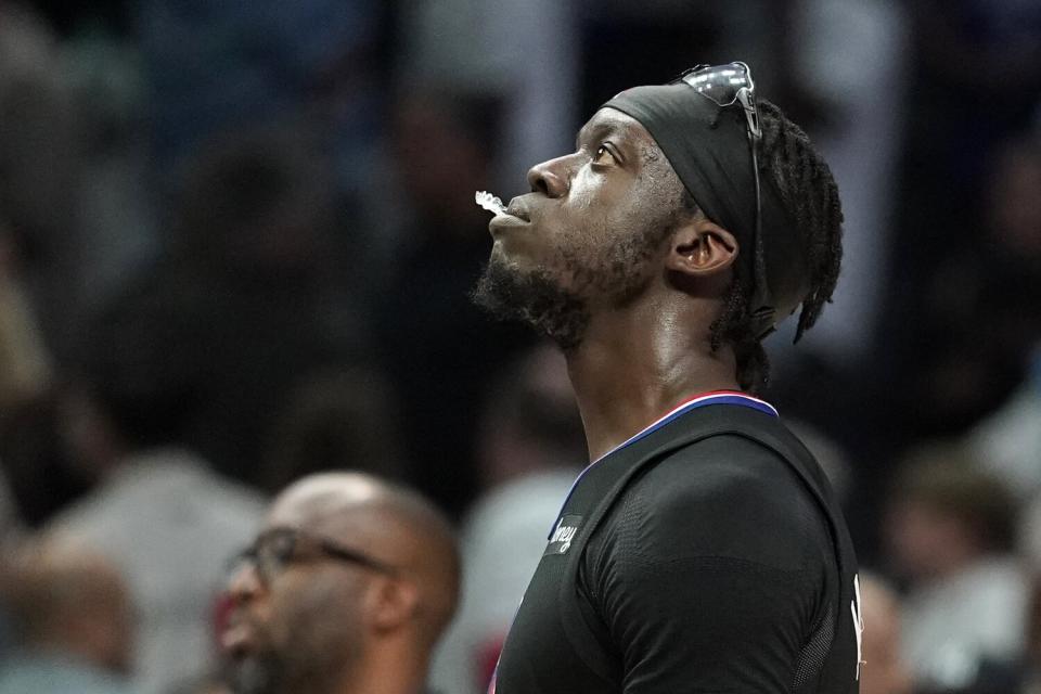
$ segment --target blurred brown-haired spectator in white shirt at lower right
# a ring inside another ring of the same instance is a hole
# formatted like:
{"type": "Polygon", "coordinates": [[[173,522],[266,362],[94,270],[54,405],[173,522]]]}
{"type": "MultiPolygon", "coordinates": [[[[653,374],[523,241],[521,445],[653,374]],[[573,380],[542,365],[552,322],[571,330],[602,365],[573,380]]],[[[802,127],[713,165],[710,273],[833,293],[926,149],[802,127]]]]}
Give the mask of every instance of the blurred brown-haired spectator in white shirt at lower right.
{"type": "Polygon", "coordinates": [[[913,452],[897,478],[886,531],[909,583],[903,645],[916,689],[966,687],[984,661],[1021,653],[1029,582],[1012,554],[1015,507],[953,445],[913,452]]]}

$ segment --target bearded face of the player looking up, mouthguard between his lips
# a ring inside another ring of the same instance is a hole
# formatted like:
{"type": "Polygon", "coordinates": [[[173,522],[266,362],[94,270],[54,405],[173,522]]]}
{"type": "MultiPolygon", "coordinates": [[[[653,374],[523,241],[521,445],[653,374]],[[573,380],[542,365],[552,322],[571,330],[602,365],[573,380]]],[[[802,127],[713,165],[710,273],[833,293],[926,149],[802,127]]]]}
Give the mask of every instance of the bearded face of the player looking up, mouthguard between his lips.
{"type": "Polygon", "coordinates": [[[489,224],[493,245],[475,300],[565,349],[590,317],[635,298],[654,277],[683,188],[633,118],[601,108],[573,154],[534,167],[531,193],[489,224]]]}

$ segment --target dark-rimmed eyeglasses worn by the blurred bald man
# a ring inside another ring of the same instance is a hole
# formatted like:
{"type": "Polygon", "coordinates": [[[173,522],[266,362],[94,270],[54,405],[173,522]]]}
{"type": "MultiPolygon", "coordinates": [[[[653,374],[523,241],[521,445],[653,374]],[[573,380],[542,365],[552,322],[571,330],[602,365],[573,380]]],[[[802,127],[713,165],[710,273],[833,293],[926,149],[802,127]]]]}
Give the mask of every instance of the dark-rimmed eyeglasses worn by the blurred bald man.
{"type": "Polygon", "coordinates": [[[355,564],[381,574],[398,573],[395,567],[361,552],[296,528],[271,528],[261,532],[249,548],[234,557],[232,565],[241,567],[247,564],[254,567],[260,581],[269,586],[286,565],[316,556],[355,564]]]}

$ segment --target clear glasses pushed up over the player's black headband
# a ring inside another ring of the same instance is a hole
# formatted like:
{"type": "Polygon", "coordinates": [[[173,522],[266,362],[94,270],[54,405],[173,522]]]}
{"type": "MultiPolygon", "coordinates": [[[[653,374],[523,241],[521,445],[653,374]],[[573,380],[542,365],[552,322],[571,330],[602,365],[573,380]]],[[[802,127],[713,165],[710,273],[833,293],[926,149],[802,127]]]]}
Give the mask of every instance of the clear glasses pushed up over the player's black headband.
{"type": "MultiPolygon", "coordinates": [[[[686,82],[694,91],[711,100],[717,106],[725,108],[740,104],[745,114],[748,132],[748,149],[751,152],[751,174],[756,183],[756,224],[754,228],[753,249],[755,258],[755,287],[753,294],[753,309],[757,319],[771,319],[772,330],[773,307],[770,300],[770,290],[767,284],[767,267],[762,253],[762,195],[759,191],[759,141],[762,139],[762,129],[759,127],[759,108],[756,106],[756,82],[751,79],[751,70],[745,63],[735,62],[727,65],[697,65],[685,70],[674,82],[686,82]]],[[[770,332],[769,330],[767,332],[770,332]]]]}

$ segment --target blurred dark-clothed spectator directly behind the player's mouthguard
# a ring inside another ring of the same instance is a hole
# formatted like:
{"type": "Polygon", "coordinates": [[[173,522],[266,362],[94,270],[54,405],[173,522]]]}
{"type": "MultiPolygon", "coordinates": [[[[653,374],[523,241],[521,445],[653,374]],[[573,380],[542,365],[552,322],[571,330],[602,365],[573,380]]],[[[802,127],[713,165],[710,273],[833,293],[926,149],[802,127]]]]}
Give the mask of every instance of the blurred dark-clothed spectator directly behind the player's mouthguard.
{"type": "Polygon", "coordinates": [[[474,192],[487,187],[498,123],[494,102],[430,89],[406,92],[395,113],[399,194],[411,219],[377,303],[380,357],[402,394],[414,479],[453,510],[474,493],[483,384],[531,344],[519,326],[489,325],[468,298],[491,247],[474,192]]]}

